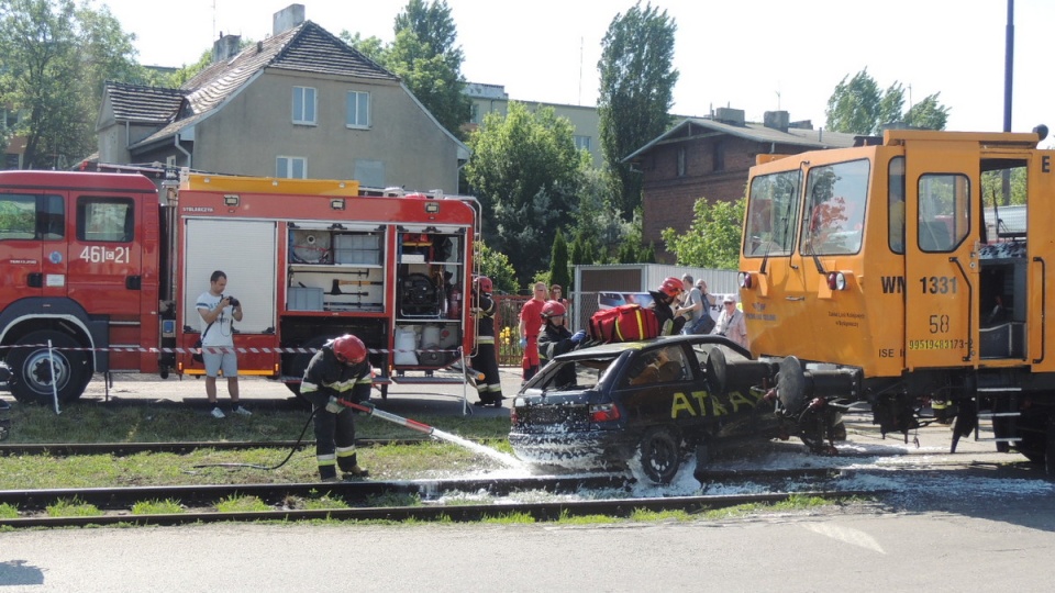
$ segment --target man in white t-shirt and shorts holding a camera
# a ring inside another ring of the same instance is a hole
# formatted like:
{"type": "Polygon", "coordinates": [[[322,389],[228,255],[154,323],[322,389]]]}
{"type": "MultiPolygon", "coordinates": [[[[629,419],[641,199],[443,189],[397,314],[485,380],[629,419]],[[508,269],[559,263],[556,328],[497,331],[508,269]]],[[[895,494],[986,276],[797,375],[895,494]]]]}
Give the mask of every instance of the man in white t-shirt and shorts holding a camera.
{"type": "Polygon", "coordinates": [[[209,278],[209,290],[198,296],[196,306],[206,328],[201,332],[201,357],[206,366],[206,395],[212,405],[212,417],[225,416],[216,403],[216,373],[223,372],[227,379],[227,393],[231,395],[232,413],[251,416],[248,410],[238,404],[238,357],[234,350],[233,323],[242,321],[242,303],[234,296],[224,296],[227,275],[220,270],[209,278]]]}

